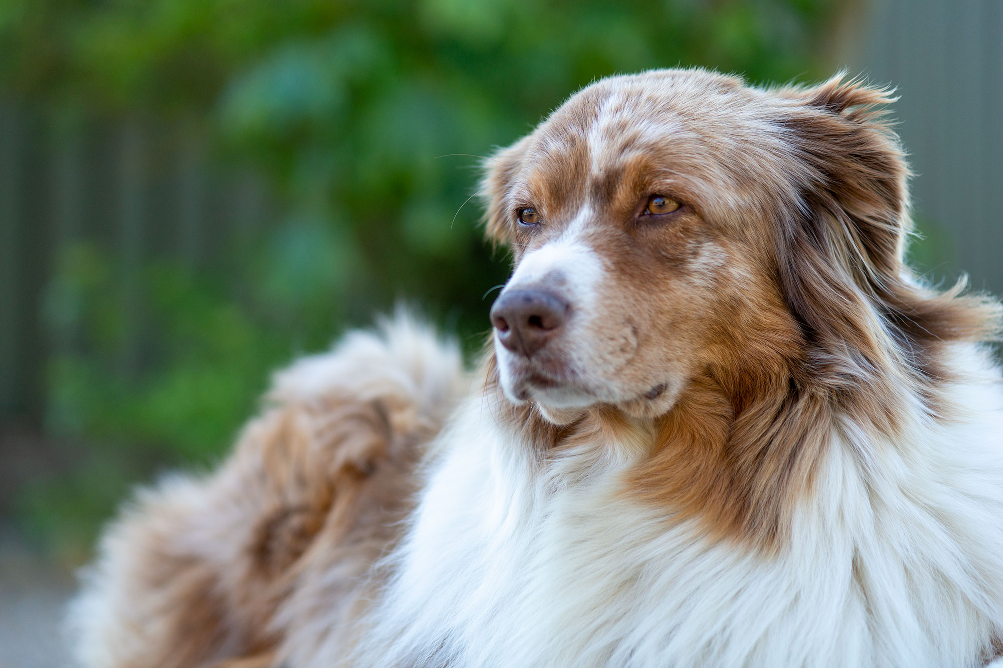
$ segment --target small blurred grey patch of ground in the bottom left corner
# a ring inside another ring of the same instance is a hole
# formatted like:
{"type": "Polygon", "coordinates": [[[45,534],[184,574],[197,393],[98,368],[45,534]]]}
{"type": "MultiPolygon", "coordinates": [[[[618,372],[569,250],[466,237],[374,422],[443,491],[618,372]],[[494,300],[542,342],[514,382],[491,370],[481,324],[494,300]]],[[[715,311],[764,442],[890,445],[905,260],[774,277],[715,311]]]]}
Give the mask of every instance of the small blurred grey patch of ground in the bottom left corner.
{"type": "Polygon", "coordinates": [[[74,588],[68,569],[53,566],[0,529],[0,668],[66,668],[62,633],[74,588]]]}

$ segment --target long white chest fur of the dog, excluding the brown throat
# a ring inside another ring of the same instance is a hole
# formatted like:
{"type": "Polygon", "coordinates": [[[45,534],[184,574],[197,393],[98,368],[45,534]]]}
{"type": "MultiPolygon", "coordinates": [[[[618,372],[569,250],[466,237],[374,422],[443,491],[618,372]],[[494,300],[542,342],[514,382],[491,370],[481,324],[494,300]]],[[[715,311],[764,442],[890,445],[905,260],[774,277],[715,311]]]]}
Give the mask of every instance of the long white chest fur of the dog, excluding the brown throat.
{"type": "Polygon", "coordinates": [[[620,493],[630,444],[537,463],[471,401],[442,436],[365,654],[499,668],[979,665],[1003,627],[1003,401],[986,371],[956,388],[964,420],[916,417],[909,442],[874,447],[837,427],[768,557],[620,493]]]}

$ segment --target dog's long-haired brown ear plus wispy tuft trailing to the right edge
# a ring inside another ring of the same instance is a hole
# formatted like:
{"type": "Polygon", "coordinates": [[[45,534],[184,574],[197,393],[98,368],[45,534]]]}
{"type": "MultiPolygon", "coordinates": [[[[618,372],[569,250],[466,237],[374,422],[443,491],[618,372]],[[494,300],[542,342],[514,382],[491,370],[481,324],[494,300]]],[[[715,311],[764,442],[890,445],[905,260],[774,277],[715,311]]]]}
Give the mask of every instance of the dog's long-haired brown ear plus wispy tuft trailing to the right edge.
{"type": "Polygon", "coordinates": [[[991,336],[993,304],[959,296],[961,284],[921,288],[905,264],[909,169],[884,117],[891,92],[843,74],[777,92],[796,163],[777,268],[788,307],[834,364],[831,377],[873,376],[888,354],[916,355],[922,367],[929,345],[991,336]]]}

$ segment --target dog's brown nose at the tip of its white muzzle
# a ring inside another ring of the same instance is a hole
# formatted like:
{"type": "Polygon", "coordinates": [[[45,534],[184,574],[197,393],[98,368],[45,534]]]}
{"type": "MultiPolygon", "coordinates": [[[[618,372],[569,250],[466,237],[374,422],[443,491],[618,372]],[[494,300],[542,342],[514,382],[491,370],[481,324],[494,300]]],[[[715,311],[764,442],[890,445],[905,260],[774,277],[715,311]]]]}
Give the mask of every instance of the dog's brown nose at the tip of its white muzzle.
{"type": "Polygon", "coordinates": [[[544,290],[505,292],[491,307],[498,339],[514,353],[532,356],[565,323],[568,302],[544,290]]]}

